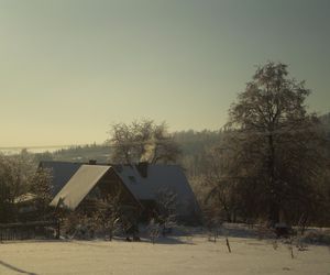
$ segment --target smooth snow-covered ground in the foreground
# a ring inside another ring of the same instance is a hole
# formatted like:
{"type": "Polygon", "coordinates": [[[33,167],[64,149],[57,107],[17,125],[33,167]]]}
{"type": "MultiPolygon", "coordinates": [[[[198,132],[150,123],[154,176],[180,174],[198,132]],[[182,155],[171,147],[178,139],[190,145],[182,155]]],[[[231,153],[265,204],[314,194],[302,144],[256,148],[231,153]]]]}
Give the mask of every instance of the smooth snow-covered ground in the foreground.
{"type": "Polygon", "coordinates": [[[0,243],[0,274],[327,274],[330,250],[309,245],[275,250],[272,241],[223,238],[216,243],[206,235],[147,241],[26,241],[0,243]]]}

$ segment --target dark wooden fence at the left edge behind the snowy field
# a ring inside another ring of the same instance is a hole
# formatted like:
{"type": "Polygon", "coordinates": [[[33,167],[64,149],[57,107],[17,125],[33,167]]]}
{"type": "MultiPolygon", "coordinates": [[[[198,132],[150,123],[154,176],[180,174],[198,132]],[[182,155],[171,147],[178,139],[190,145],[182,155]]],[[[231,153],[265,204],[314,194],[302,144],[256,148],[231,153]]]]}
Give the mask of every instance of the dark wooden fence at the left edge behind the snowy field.
{"type": "Polygon", "coordinates": [[[58,221],[0,223],[0,241],[58,238],[58,221]]]}

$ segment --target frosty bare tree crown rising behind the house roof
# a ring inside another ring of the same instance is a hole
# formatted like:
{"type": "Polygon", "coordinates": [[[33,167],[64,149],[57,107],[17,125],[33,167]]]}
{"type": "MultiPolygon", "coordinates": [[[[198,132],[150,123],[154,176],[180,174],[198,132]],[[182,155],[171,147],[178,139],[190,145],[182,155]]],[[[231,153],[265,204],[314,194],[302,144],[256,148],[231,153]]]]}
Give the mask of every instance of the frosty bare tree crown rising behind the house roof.
{"type": "Polygon", "coordinates": [[[117,123],[110,130],[113,163],[174,163],[180,154],[177,143],[167,132],[165,122],[153,120],[117,123]]]}

